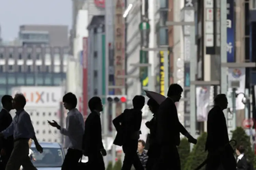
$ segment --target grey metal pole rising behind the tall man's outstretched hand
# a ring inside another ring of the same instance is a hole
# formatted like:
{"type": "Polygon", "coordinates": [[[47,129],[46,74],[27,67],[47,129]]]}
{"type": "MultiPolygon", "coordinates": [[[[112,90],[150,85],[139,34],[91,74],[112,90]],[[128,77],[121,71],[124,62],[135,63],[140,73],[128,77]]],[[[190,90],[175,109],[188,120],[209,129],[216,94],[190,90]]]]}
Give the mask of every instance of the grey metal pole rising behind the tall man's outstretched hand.
{"type": "MultiPolygon", "coordinates": [[[[196,81],[195,26],[190,27],[190,81],[196,81]]],[[[196,85],[190,84],[190,134],[196,136],[196,85]]],[[[192,151],[193,144],[190,144],[192,151]]]]}

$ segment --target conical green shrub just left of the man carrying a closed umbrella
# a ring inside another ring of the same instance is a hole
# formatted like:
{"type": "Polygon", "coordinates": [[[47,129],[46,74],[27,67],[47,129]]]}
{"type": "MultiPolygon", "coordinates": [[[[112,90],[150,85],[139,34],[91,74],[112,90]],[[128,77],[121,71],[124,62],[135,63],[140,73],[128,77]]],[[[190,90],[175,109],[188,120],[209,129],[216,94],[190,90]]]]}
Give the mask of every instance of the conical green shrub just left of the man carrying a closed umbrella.
{"type": "MultiPolygon", "coordinates": [[[[192,152],[190,152],[187,158],[184,170],[193,170],[197,168],[207,158],[208,152],[204,151],[206,139],[206,132],[198,137],[197,144],[193,147],[192,152]]],[[[201,168],[201,170],[203,169],[205,169],[205,166],[201,168]]]]}

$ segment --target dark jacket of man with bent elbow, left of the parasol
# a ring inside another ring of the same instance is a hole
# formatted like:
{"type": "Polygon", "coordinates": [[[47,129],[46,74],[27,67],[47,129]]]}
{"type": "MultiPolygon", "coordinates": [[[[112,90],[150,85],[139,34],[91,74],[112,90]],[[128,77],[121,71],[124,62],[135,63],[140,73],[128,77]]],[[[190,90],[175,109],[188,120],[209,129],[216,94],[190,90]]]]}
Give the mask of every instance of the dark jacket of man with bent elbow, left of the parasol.
{"type": "MultiPolygon", "coordinates": [[[[138,109],[125,109],[113,120],[117,135],[114,144],[122,146],[124,141],[133,139],[133,134],[140,131],[142,112],[138,109]]],[[[137,139],[136,139],[137,140],[137,139]]]]}

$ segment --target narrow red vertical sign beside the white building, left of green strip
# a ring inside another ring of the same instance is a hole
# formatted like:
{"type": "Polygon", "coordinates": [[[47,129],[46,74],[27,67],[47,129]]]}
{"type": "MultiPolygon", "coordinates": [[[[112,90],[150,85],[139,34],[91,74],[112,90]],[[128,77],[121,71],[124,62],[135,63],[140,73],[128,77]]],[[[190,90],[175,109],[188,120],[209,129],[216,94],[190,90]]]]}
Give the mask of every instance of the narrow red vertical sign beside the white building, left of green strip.
{"type": "Polygon", "coordinates": [[[83,116],[87,118],[88,104],[88,38],[83,37],[83,116]]]}

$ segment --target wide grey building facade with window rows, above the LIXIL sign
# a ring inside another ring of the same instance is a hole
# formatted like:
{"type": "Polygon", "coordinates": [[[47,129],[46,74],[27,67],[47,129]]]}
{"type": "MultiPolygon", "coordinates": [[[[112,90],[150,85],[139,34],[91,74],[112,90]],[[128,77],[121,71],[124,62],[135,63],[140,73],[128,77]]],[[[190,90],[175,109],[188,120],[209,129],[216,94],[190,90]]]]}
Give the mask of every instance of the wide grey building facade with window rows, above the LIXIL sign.
{"type": "Polygon", "coordinates": [[[0,46],[0,98],[15,86],[60,86],[69,47],[0,46]]]}

